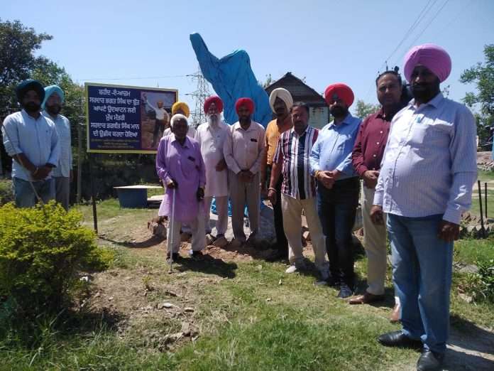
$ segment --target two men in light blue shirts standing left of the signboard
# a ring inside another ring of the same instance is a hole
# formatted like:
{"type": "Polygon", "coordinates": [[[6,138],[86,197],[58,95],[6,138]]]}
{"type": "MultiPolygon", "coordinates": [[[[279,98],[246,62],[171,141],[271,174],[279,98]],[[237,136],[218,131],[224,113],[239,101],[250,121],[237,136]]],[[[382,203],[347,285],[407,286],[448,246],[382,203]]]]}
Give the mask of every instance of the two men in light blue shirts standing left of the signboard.
{"type": "Polygon", "coordinates": [[[70,122],[60,114],[65,94],[57,85],[44,87],[25,80],[16,87],[22,110],[9,114],[2,125],[7,154],[13,158],[12,181],[16,205],[57,200],[69,208],[72,181],[70,122]]]}

